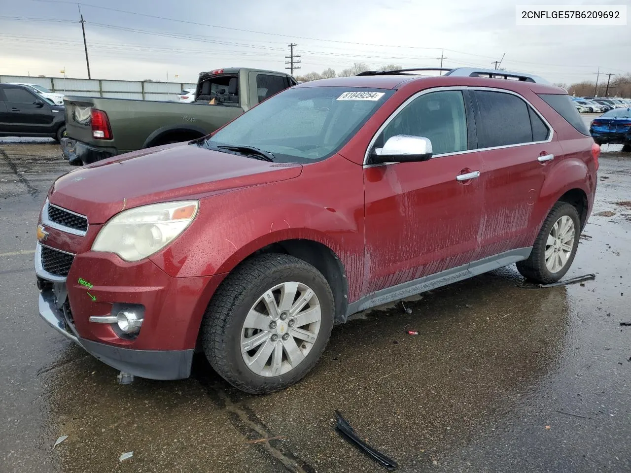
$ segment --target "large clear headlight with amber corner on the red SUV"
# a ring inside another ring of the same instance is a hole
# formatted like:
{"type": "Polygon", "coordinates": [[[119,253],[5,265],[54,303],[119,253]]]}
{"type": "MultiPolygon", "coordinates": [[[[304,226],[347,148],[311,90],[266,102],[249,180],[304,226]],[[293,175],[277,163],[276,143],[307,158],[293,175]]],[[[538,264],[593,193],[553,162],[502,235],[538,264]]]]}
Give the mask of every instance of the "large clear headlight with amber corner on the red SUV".
{"type": "Polygon", "coordinates": [[[180,201],[122,211],[98,232],[92,250],[112,252],[126,261],[146,258],[186,230],[198,207],[198,201],[180,201]]]}

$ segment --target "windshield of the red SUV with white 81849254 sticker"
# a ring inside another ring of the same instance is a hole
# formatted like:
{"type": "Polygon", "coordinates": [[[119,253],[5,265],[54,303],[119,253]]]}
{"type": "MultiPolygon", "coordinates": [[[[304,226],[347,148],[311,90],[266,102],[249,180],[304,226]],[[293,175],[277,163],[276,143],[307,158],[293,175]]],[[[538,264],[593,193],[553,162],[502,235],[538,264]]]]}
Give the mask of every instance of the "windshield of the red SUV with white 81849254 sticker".
{"type": "Polygon", "coordinates": [[[250,146],[285,163],[311,163],[336,153],[394,93],[353,87],[286,89],[199,143],[250,146]]]}

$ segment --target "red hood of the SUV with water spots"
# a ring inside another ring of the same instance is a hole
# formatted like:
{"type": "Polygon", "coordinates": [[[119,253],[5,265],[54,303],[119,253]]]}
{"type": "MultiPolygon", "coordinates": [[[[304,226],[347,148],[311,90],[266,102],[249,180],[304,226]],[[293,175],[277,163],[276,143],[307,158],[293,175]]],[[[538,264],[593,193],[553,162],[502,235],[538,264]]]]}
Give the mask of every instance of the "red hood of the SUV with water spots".
{"type": "Polygon", "coordinates": [[[58,178],[52,204],[104,223],[122,209],[198,199],[227,190],[298,177],[302,166],[270,163],[186,143],[141,149],[97,161],[58,178]]]}

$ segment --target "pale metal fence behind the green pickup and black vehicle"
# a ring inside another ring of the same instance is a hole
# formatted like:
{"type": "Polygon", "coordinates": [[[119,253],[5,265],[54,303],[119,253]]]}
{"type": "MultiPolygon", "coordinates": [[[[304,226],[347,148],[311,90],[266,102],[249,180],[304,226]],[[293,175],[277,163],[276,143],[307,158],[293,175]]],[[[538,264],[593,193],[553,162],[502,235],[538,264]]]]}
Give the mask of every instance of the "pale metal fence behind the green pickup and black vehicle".
{"type": "Polygon", "coordinates": [[[180,91],[194,89],[196,86],[196,84],[186,82],[111,81],[107,79],[27,76],[0,76],[0,82],[37,84],[64,95],[157,101],[177,100],[180,91]]]}

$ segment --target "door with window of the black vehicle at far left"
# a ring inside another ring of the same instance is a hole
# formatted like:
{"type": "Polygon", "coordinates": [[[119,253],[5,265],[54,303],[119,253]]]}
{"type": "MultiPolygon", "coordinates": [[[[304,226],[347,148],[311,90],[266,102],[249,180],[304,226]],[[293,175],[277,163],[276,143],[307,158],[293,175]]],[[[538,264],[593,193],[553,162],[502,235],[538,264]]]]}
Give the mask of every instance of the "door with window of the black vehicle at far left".
{"type": "Polygon", "coordinates": [[[4,85],[3,93],[10,131],[23,134],[53,132],[52,108],[42,98],[20,86],[4,85]]]}

